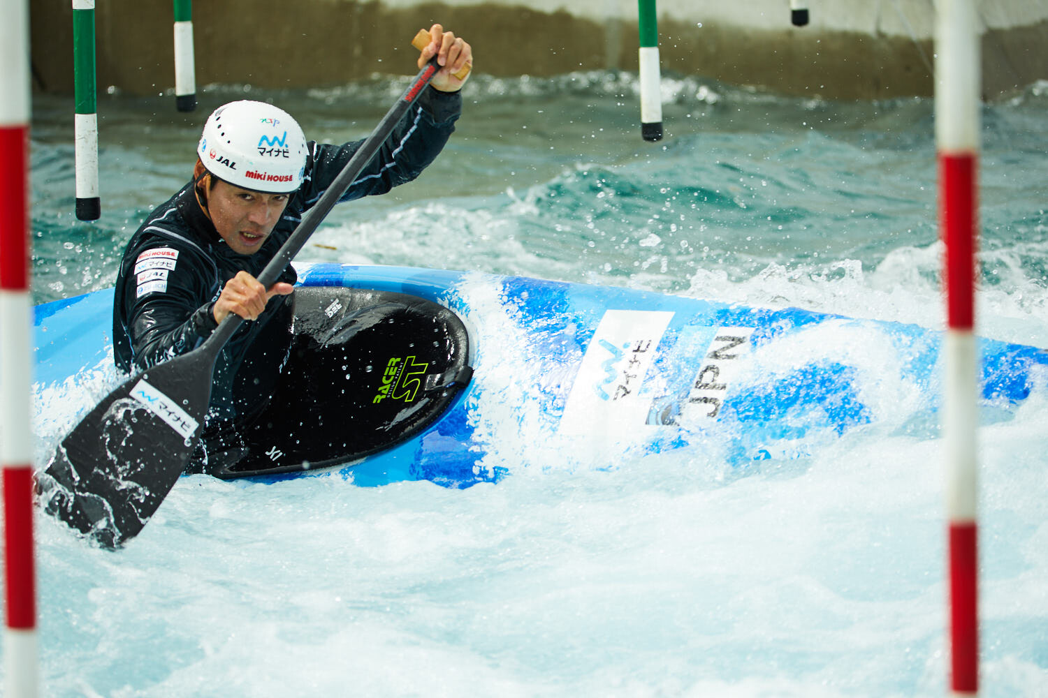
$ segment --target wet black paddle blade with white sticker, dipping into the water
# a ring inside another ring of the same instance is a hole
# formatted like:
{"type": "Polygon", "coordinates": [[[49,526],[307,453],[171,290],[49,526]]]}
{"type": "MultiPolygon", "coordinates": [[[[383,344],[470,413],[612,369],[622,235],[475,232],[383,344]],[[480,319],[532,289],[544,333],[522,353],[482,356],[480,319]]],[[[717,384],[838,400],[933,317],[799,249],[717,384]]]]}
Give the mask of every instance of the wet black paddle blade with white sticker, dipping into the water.
{"type": "Polygon", "coordinates": [[[199,442],[214,367],[202,348],[126,381],[77,425],[38,476],[45,512],[108,548],[141,531],[199,442]]]}

